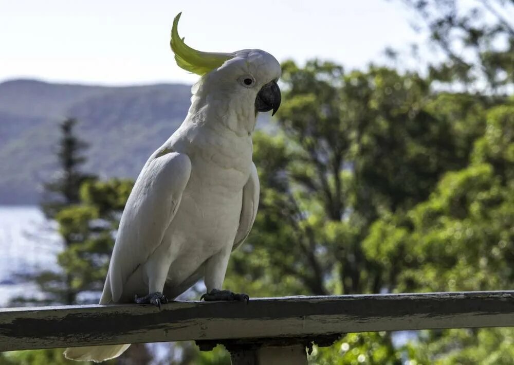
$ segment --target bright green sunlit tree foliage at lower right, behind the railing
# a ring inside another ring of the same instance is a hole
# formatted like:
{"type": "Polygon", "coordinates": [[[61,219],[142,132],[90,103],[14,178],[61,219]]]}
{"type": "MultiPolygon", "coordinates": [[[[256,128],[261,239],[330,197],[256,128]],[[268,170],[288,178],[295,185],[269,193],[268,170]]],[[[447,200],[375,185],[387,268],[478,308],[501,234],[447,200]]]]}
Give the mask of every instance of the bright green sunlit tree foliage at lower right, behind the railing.
{"type": "MultiPolygon", "coordinates": [[[[430,198],[403,216],[377,221],[369,257],[408,252],[398,291],[499,290],[514,281],[514,106],[489,110],[468,167],[448,172],[430,198]],[[383,237],[387,237],[383,242],[383,237]],[[410,247],[409,250],[406,250],[410,247]]],[[[408,351],[419,363],[512,362],[511,328],[424,332],[408,351]]]]}

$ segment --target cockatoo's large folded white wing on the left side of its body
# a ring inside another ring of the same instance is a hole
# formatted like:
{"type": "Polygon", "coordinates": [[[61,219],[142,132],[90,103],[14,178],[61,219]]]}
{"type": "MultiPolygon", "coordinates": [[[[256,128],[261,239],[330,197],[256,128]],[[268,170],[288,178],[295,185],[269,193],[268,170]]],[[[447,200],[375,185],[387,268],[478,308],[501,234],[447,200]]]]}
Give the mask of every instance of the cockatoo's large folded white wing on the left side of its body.
{"type": "Polygon", "coordinates": [[[106,286],[113,302],[120,299],[127,278],[161,244],[190,175],[191,160],[185,154],[164,149],[146,162],[125,205],[109,265],[106,286]]]}

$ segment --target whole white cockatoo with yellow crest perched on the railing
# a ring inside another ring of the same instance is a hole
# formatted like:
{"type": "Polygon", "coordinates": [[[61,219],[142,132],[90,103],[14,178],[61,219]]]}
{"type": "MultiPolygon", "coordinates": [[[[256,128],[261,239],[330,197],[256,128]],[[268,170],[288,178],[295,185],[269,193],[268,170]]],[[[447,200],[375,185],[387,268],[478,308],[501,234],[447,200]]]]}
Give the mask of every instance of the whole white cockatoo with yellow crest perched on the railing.
{"type": "MultiPolygon", "coordinates": [[[[248,236],[259,204],[252,132],[259,112],[277,111],[279,62],[260,49],[197,51],[171,32],[179,67],[200,75],[188,115],[146,161],[121,217],[100,304],[160,307],[204,278],[205,300],[248,300],[222,290],[232,250],[248,236]]],[[[130,344],[68,348],[103,361],[130,344]]]]}

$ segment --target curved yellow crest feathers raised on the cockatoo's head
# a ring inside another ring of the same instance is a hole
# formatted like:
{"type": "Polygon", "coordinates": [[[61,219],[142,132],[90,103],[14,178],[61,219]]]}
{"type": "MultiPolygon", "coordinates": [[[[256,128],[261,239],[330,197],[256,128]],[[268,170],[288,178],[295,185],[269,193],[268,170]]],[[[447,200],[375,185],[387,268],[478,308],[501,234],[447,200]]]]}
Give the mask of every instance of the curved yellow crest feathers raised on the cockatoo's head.
{"type": "Polygon", "coordinates": [[[193,74],[203,76],[223,65],[225,61],[231,58],[230,53],[202,52],[184,43],[185,38],[180,38],[177,30],[178,20],[181,14],[181,12],[178,13],[173,20],[170,42],[171,49],[173,53],[175,53],[175,61],[178,67],[193,72],[193,74]]]}

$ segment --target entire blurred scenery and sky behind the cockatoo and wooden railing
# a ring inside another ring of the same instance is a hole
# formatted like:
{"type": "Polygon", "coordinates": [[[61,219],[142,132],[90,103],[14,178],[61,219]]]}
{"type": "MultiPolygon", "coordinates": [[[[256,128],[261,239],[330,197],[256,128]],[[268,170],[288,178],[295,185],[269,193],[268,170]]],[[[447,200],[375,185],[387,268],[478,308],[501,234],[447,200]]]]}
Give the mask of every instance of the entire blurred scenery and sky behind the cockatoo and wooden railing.
{"type": "MultiPolygon", "coordinates": [[[[197,79],[169,49],[261,48],[251,297],[512,289],[514,1],[0,1],[0,305],[94,303],[133,180],[197,79]]],[[[199,283],[183,299],[197,299],[199,283]]],[[[514,364],[514,329],[348,334],[312,364],[514,364]]],[[[0,365],[67,364],[62,349],[0,365]]],[[[229,364],[133,345],[113,364],[229,364]]]]}

